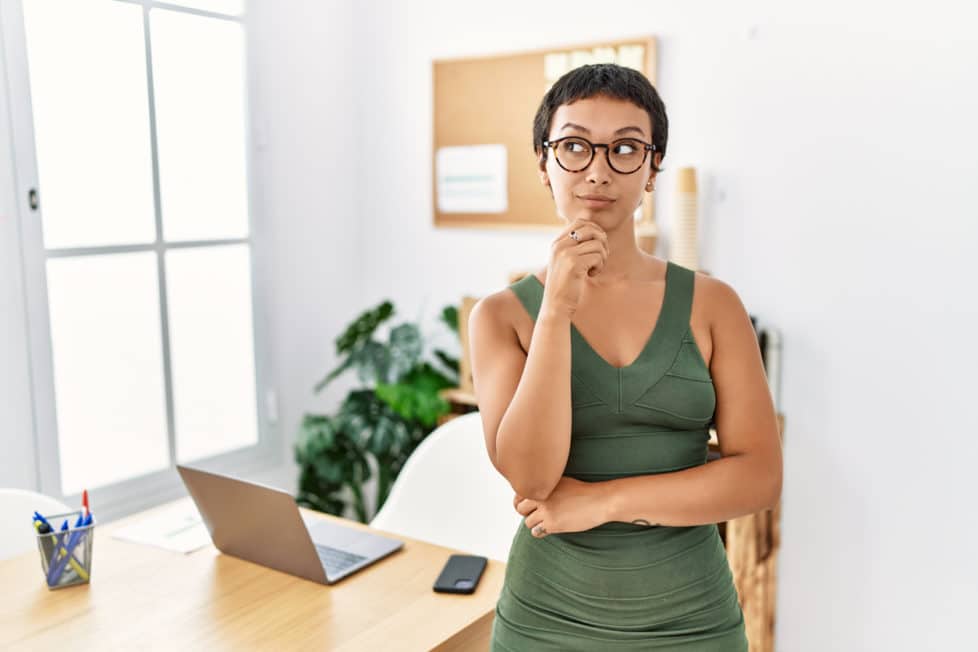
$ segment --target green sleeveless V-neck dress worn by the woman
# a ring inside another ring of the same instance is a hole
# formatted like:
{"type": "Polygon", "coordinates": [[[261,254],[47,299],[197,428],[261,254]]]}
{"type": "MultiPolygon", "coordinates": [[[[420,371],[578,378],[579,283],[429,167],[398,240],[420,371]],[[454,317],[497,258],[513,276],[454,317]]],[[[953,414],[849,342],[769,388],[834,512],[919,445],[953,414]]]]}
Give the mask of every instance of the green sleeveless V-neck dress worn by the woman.
{"type": "MultiPolygon", "coordinates": [[[[692,270],[668,262],[658,320],[639,357],[615,367],[571,325],[570,456],[564,475],[599,482],[706,463],[713,380],[689,326],[692,270]]],[[[543,285],[509,286],[536,320],[543,285]]],[[[513,536],[496,603],[494,652],[746,652],[744,615],[717,524],[613,521],[513,536]]]]}

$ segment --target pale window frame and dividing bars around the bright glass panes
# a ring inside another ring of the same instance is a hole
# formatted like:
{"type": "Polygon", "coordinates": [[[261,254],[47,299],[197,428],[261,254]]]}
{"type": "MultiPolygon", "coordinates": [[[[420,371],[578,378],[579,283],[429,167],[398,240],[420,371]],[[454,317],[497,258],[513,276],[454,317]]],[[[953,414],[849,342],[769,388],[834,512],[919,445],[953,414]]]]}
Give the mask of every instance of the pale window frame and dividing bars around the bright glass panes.
{"type": "MultiPolygon", "coordinates": [[[[257,408],[258,443],[245,448],[194,460],[192,464],[235,475],[250,475],[278,468],[283,463],[283,437],[278,424],[277,391],[275,389],[268,346],[267,314],[268,298],[262,292],[261,270],[264,264],[263,248],[255,238],[259,215],[257,208],[257,158],[255,143],[256,114],[252,97],[254,69],[248,43],[246,10],[239,16],[217,14],[210,11],[181,7],[155,0],[112,0],[142,8],[142,27],[147,68],[147,102],[149,103],[150,147],[152,156],[155,240],[145,244],[108,245],[99,247],[72,247],[46,249],[41,228],[43,194],[38,210],[32,210],[28,201],[31,189],[39,188],[38,168],[34,139],[33,110],[31,107],[30,80],[26,34],[22,0],[0,3],[0,34],[3,51],[0,52],[0,73],[6,73],[7,98],[10,116],[11,144],[14,162],[14,219],[20,236],[21,266],[23,275],[24,306],[26,309],[28,357],[30,360],[30,395],[33,418],[34,462],[37,489],[57,497],[68,504],[79,504],[80,494],[64,494],[61,487],[60,453],[58,449],[57,414],[54,395],[54,369],[51,345],[46,265],[49,258],[105,255],[113,253],[152,251],[156,256],[157,282],[160,291],[160,333],[163,340],[163,374],[166,401],[166,430],[169,449],[167,468],[126,479],[101,487],[89,488],[93,504],[98,505],[101,520],[112,520],[141,509],[151,507],[185,495],[185,489],[175,471],[176,429],[174,424],[173,384],[170,373],[170,333],[166,294],[166,252],[175,249],[218,247],[244,244],[250,258],[251,319],[253,354],[255,362],[255,403],[257,408]],[[163,238],[160,205],[159,159],[156,141],[155,88],[152,69],[152,34],[150,11],[165,9],[180,11],[208,18],[231,20],[241,25],[244,38],[245,94],[245,169],[246,205],[248,211],[248,235],[244,238],[166,242],[163,238]]],[[[0,83],[4,77],[0,76],[0,83]]],[[[0,95],[0,98],[3,96],[0,95]]]]}

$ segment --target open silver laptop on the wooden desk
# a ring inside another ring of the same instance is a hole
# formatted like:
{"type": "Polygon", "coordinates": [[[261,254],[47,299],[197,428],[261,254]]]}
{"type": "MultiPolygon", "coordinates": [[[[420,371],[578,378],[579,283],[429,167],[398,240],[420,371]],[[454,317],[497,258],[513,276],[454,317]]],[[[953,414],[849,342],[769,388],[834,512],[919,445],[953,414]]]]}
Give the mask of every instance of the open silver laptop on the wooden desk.
{"type": "Polygon", "coordinates": [[[399,550],[403,541],[305,517],[287,492],[177,465],[221,552],[332,584],[399,550]]]}

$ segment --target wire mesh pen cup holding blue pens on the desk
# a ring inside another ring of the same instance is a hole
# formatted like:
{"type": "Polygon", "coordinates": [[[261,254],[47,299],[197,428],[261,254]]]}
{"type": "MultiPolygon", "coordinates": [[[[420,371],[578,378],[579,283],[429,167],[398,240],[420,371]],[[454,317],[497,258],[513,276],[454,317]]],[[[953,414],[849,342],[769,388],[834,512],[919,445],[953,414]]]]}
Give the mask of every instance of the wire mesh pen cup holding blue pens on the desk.
{"type": "MultiPolygon", "coordinates": [[[[51,527],[67,519],[71,525],[82,512],[45,516],[51,527]]],[[[95,538],[95,521],[89,525],[70,527],[47,534],[37,533],[37,549],[41,554],[41,568],[49,589],[60,589],[75,584],[87,584],[92,577],[92,539],[95,538]]]]}

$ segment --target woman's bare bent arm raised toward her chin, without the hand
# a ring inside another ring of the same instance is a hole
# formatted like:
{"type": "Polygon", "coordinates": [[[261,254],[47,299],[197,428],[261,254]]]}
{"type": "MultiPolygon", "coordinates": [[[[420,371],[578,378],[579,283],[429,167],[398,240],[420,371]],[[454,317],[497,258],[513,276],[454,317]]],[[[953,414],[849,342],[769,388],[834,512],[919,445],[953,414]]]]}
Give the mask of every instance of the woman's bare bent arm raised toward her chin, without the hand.
{"type": "Polygon", "coordinates": [[[546,500],[570,454],[570,317],[540,307],[527,353],[501,294],[469,315],[472,381],[493,466],[523,496],[546,500]]]}

